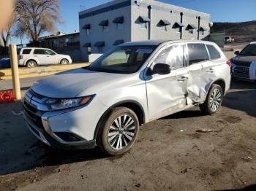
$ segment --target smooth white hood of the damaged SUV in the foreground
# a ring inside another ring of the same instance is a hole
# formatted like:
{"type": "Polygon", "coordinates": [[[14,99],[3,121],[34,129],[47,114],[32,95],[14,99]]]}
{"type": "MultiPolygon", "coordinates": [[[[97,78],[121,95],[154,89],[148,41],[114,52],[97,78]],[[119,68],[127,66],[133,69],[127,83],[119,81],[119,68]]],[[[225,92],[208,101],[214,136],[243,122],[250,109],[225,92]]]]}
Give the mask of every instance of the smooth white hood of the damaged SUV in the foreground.
{"type": "MultiPolygon", "coordinates": [[[[50,98],[75,98],[84,90],[94,87],[104,87],[104,84],[116,82],[125,74],[112,74],[86,69],[73,69],[59,74],[53,74],[40,79],[31,87],[35,93],[50,98]]],[[[91,92],[96,94],[97,92],[91,92]]]]}

